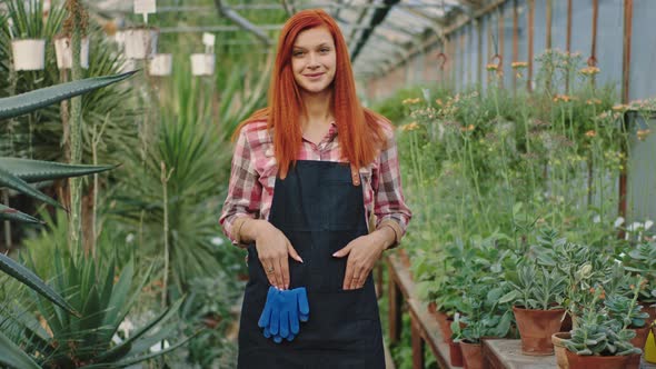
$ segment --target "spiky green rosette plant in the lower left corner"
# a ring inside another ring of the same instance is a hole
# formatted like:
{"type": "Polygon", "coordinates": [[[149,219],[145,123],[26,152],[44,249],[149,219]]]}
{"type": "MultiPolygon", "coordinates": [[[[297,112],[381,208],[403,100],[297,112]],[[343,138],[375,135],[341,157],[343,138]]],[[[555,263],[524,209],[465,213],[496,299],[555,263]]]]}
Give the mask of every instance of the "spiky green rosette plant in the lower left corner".
{"type": "MultiPolygon", "coordinates": [[[[28,307],[24,313],[10,317],[12,339],[20,342],[24,352],[40,366],[122,367],[150,357],[145,351],[173,332],[175,326],[167,323],[178,311],[181,300],[132,332],[129,339],[112,343],[119,325],[138,302],[137,297],[150,271],[138,278],[132,261],[117,269],[116,259],[107,259],[108,262],[99,262],[56,250],[53,289],[80,312],[79,317],[63,313],[42,298],[34,300],[38,315],[28,313],[31,310],[28,307]],[[43,317],[48,332],[40,328],[38,317],[43,317]],[[17,329],[24,335],[18,333],[17,329]]],[[[158,355],[169,352],[185,341],[182,339],[158,355]]]]}

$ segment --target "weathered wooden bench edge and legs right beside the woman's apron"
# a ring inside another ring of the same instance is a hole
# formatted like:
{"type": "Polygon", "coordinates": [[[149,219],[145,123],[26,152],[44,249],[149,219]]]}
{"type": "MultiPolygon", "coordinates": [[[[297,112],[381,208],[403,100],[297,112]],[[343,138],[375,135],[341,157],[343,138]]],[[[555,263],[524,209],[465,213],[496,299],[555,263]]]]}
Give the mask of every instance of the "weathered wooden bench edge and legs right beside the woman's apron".
{"type": "Polygon", "coordinates": [[[424,350],[426,343],[433,351],[440,368],[458,368],[449,362],[449,347],[444,341],[437,321],[428,313],[426,305],[415,293],[415,283],[399,258],[387,255],[389,272],[389,340],[398,342],[401,333],[401,305],[405,300],[410,312],[410,330],[413,337],[413,369],[425,367],[424,350]]]}

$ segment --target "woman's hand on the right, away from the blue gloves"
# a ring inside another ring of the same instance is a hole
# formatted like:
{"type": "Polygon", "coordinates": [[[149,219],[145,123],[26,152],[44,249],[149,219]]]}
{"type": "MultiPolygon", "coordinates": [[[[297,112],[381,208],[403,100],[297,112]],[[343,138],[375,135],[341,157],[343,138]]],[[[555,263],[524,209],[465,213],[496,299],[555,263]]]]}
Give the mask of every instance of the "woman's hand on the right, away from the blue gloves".
{"type": "Polygon", "coordinates": [[[336,258],[348,256],[342,288],[345,290],[362,288],[369,272],[385,249],[385,239],[381,235],[374,232],[356,238],[345,248],[335,252],[332,256],[336,258]]]}

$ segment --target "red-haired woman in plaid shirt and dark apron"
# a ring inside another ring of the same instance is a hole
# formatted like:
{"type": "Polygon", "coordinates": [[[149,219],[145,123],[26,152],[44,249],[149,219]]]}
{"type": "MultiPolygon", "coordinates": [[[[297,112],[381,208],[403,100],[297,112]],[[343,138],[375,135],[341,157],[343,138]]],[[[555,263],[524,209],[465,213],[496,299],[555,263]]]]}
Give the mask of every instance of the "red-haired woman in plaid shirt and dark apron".
{"type": "Polygon", "coordinates": [[[394,130],[360,106],[325,11],[291,17],[278,47],[269,107],[236,132],[220,218],[248,248],[238,367],[385,368],[370,271],[411,217],[394,130]],[[307,290],[310,318],[294,341],[275,343],[257,326],[269,285],[307,290]]]}

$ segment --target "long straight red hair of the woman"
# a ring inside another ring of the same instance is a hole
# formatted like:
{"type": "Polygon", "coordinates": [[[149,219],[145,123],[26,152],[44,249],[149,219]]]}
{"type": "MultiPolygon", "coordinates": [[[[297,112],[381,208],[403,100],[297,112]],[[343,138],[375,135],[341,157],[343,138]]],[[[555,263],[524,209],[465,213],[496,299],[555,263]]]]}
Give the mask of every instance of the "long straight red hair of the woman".
{"type": "Polygon", "coordinates": [[[278,53],[269,86],[269,106],[256,111],[241,122],[235,132],[255,121],[267,121],[274,130],[274,150],[278,174],[287,177],[289,166],[296,162],[302,144],[301,113],[305,112],[299,87],[291,70],[291,53],[297,36],[308,29],[326,27],[336,51],[336,71],[332,80],[330,109],[334,112],[341,157],[357,168],[371,163],[387,137],[382,124],[389,121],[369,109],[362,108],[356,94],[356,83],[344,36],[335,20],[324,10],[308,9],[287,20],[278,38],[278,53]]]}

